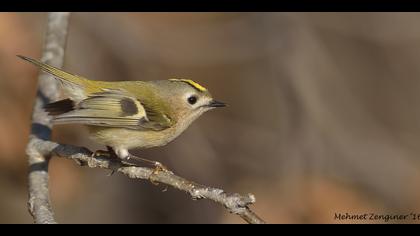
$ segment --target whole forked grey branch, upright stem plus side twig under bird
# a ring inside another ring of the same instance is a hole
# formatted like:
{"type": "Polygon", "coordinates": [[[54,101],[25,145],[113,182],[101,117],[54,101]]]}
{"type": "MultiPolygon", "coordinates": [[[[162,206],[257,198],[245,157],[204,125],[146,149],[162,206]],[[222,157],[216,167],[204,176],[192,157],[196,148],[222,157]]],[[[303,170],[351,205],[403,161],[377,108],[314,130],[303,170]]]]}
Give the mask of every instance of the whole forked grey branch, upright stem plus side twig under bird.
{"type": "MultiPolygon", "coordinates": [[[[47,39],[42,60],[56,67],[63,63],[69,13],[50,13],[48,16],[47,39]]],[[[38,94],[32,115],[32,132],[26,149],[29,157],[29,211],[36,223],[56,223],[51,209],[48,191],[48,162],[52,155],[76,161],[91,168],[104,168],[120,172],[129,178],[146,179],[163,183],[185,191],[193,199],[209,199],[223,205],[248,223],[264,223],[249,205],[255,202],[252,194],[229,194],[222,189],[211,188],[179,177],[167,170],[154,170],[121,162],[117,159],[94,157],[86,148],[62,145],[49,141],[51,137],[50,117],[42,107],[58,96],[57,84],[47,74],[41,74],[38,94]]]]}

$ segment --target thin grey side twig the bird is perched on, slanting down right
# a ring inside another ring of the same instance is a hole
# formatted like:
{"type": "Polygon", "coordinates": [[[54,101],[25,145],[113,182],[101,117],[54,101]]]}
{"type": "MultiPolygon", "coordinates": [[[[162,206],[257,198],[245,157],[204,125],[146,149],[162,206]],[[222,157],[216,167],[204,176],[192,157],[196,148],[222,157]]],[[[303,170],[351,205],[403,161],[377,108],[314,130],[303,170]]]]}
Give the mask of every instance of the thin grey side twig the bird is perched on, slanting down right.
{"type": "Polygon", "coordinates": [[[265,223],[249,209],[249,205],[255,202],[255,197],[252,194],[240,195],[238,193],[226,193],[222,189],[207,187],[186,180],[171,171],[138,167],[130,163],[121,162],[118,159],[94,157],[90,150],[82,147],[58,144],[40,139],[34,141],[33,144],[44,155],[52,154],[72,159],[81,166],[110,169],[122,173],[129,178],[166,184],[175,189],[187,192],[193,199],[209,199],[219,203],[228,209],[229,212],[239,215],[248,223],[265,223]]]}

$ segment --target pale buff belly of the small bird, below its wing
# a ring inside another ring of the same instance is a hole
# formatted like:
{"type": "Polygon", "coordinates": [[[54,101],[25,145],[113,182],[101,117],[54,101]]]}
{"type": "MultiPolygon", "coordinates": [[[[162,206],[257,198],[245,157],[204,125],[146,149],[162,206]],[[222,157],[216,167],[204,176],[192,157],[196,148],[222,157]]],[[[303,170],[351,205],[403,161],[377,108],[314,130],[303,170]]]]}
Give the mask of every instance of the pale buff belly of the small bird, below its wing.
{"type": "Polygon", "coordinates": [[[100,126],[88,127],[90,137],[94,141],[107,146],[126,149],[163,146],[177,136],[170,129],[157,132],[152,130],[132,130],[100,126]]]}

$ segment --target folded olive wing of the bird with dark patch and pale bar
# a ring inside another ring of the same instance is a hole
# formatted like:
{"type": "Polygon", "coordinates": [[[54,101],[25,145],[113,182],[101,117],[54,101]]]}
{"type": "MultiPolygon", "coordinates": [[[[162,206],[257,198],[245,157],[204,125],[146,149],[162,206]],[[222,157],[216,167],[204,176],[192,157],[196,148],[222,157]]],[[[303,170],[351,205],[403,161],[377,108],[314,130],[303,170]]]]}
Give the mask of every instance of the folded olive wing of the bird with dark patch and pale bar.
{"type": "MultiPolygon", "coordinates": [[[[59,105],[59,102],[56,104],[59,105]]],[[[53,103],[46,110],[53,114],[58,108],[53,103]]],[[[53,122],[139,130],[163,130],[171,126],[168,116],[155,111],[153,107],[145,107],[139,99],[122,89],[103,89],[102,92],[93,93],[75,104],[70,111],[56,115],[53,122]]]]}

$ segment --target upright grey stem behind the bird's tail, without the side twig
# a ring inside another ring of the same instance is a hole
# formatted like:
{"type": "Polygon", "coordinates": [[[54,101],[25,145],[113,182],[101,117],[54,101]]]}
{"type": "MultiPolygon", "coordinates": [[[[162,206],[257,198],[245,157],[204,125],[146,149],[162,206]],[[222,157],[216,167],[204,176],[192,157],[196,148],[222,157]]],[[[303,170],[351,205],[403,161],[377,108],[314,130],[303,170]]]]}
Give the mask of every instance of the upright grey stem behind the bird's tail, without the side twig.
{"type": "MultiPolygon", "coordinates": [[[[49,13],[47,35],[42,61],[61,67],[64,58],[70,13],[49,13]]],[[[51,120],[42,107],[58,97],[57,84],[47,74],[40,74],[38,91],[32,113],[32,129],[26,153],[29,159],[28,208],[36,223],[55,223],[48,191],[49,153],[41,153],[34,146],[36,140],[50,140],[51,120]]]]}

